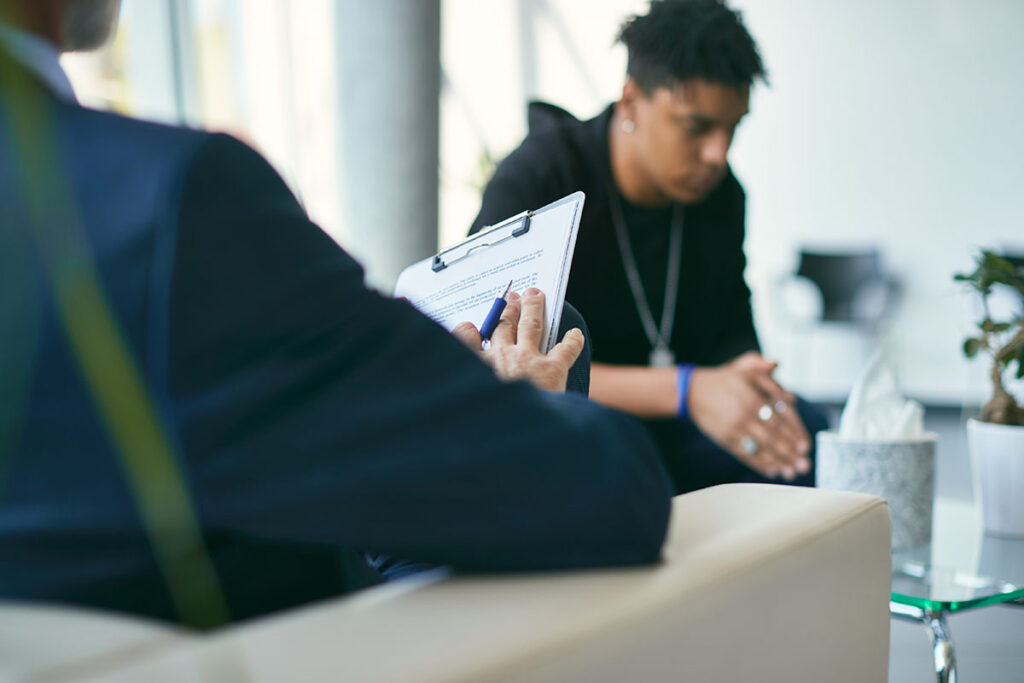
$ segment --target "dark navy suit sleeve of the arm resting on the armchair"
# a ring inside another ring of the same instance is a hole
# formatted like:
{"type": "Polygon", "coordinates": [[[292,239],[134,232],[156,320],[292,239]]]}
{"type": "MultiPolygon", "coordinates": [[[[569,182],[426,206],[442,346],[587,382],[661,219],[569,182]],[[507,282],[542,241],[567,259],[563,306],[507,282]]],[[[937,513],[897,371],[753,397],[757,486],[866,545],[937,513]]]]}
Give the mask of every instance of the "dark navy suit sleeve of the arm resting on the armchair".
{"type": "Polygon", "coordinates": [[[177,224],[168,383],[207,528],[465,568],[657,558],[642,428],[367,289],[251,150],[203,145],[177,224]]]}

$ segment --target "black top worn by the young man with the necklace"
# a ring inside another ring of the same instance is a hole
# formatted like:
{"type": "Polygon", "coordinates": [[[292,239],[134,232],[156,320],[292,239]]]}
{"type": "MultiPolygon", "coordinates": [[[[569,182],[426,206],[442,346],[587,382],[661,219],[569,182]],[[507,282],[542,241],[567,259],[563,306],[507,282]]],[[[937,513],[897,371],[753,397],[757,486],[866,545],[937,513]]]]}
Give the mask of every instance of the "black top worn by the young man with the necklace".
{"type": "MultiPolygon", "coordinates": [[[[530,104],[530,132],[502,162],[471,232],[577,190],[584,205],[566,300],[590,328],[598,362],[647,365],[651,344],[629,288],[609,211],[612,108],[579,121],[530,104]]],[[[613,190],[617,191],[617,190],[613,190]]],[[[631,205],[624,217],[654,323],[662,323],[672,208],[631,205]]],[[[743,282],[742,187],[730,172],[700,204],[684,208],[682,260],[671,347],[679,361],[717,365],[758,348],[743,282]]]]}

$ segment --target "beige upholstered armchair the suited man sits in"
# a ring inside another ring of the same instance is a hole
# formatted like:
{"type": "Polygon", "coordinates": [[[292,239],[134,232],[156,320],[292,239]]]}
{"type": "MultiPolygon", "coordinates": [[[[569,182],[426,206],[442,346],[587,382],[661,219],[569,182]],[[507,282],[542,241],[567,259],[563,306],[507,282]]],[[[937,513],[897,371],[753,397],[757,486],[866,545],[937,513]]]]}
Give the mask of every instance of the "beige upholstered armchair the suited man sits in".
{"type": "Polygon", "coordinates": [[[657,566],[421,577],[51,680],[885,681],[889,586],[881,499],[732,484],[657,566]]]}

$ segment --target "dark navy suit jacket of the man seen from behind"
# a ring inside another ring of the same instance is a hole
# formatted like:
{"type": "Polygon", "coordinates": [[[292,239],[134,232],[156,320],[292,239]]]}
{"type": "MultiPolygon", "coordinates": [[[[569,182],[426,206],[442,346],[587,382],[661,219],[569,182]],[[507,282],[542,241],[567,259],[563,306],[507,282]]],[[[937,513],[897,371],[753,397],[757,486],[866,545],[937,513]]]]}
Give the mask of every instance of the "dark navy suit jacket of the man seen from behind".
{"type": "Polygon", "coordinates": [[[52,249],[95,265],[232,618],[374,581],[356,549],[482,570],[657,558],[670,484],[636,423],[498,381],[368,290],[239,141],[58,102],[0,60],[0,596],[176,618],[68,335],[87,309],[55,304],[80,273],[52,249]],[[33,227],[27,198],[57,184],[11,136],[33,103],[82,244],[33,227]]]}

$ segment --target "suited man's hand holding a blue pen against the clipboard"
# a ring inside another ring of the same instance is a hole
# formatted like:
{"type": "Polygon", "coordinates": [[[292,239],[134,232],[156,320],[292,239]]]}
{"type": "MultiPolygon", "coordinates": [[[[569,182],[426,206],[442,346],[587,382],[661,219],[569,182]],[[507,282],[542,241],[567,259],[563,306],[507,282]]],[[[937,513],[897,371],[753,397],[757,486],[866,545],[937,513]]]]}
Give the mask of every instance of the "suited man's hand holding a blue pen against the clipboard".
{"type": "Polygon", "coordinates": [[[548,391],[565,391],[569,368],[580,357],[584,344],[583,332],[573,328],[548,353],[541,353],[544,293],[534,287],[521,297],[515,292],[509,294],[486,350],[481,350],[480,331],[472,323],[460,323],[452,334],[476,351],[503,380],[527,380],[548,391]]]}

